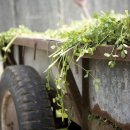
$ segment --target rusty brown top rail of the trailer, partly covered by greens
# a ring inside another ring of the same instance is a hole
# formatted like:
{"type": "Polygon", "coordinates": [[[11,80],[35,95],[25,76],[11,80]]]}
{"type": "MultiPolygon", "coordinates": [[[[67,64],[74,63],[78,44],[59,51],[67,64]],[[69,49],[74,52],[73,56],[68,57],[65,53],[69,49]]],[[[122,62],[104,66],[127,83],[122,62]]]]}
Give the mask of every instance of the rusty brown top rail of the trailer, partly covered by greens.
{"type": "MultiPolygon", "coordinates": [[[[51,49],[52,45],[62,45],[64,43],[64,41],[62,40],[57,40],[57,39],[43,39],[40,37],[18,37],[15,41],[14,44],[15,45],[21,45],[21,46],[26,46],[26,47],[31,47],[31,48],[35,48],[36,44],[37,44],[37,49],[40,50],[45,50],[48,52],[54,52],[55,49],[51,49]]],[[[114,46],[113,45],[109,45],[109,46],[98,46],[96,48],[96,51],[94,52],[94,55],[88,55],[85,54],[83,56],[83,58],[90,58],[90,59],[104,59],[104,60],[110,60],[110,58],[105,57],[104,53],[111,53],[113,50],[114,46]]],[[[121,60],[121,61],[130,61],[130,46],[126,48],[126,50],[128,51],[128,54],[126,56],[126,58],[112,58],[113,60],[121,60]]],[[[115,52],[116,50],[114,50],[115,52]]],[[[117,54],[120,54],[119,52],[117,54]]]]}

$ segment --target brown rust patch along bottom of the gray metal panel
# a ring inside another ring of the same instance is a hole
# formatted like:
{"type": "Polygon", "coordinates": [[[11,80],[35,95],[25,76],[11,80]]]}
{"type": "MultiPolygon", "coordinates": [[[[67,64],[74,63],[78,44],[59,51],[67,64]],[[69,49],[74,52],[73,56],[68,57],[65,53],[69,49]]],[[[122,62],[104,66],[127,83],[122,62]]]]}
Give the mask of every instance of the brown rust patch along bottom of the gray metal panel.
{"type": "Polygon", "coordinates": [[[96,104],[91,110],[90,112],[96,116],[101,116],[103,118],[106,118],[107,120],[111,121],[112,123],[114,123],[115,125],[117,125],[119,128],[121,128],[122,130],[130,130],[130,123],[120,123],[117,122],[115,119],[113,119],[106,111],[103,111],[100,109],[100,106],[98,104],[96,104]]]}

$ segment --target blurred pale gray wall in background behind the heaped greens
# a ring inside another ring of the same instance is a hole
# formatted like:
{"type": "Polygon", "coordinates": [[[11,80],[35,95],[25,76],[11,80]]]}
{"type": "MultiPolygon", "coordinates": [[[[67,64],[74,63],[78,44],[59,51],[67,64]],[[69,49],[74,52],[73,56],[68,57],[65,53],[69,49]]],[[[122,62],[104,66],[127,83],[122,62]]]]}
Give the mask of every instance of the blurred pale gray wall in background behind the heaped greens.
{"type": "MultiPolygon", "coordinates": [[[[124,12],[130,0],[87,0],[90,14],[95,11],[124,12]]],[[[81,19],[82,11],[74,0],[0,0],[0,31],[25,25],[32,30],[44,31],[81,19]]]]}

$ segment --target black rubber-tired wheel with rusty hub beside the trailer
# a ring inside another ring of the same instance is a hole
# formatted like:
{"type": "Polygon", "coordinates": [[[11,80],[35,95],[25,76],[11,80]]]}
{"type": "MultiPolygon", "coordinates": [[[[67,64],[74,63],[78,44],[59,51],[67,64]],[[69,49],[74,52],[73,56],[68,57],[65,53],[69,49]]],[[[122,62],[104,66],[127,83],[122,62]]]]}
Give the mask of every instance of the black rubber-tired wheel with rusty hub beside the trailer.
{"type": "Polygon", "coordinates": [[[55,130],[45,82],[29,66],[5,69],[0,82],[1,130],[55,130]]]}

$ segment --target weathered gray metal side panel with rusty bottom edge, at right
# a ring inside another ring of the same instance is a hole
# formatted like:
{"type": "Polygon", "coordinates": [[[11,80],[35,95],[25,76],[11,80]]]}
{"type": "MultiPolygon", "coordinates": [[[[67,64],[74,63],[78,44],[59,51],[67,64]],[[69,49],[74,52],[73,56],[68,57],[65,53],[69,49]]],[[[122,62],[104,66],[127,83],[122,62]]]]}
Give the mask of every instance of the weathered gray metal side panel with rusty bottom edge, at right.
{"type": "Polygon", "coordinates": [[[130,62],[117,61],[113,69],[107,63],[105,60],[90,60],[92,75],[99,80],[99,90],[96,90],[94,79],[89,78],[91,111],[129,130],[130,62]]]}

